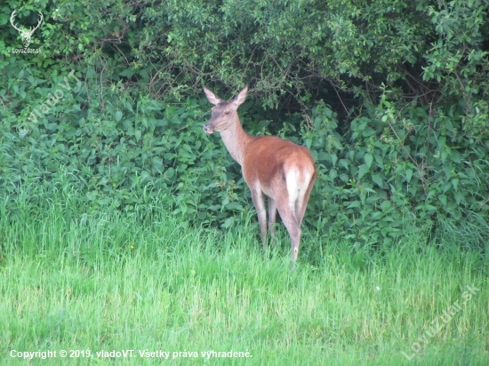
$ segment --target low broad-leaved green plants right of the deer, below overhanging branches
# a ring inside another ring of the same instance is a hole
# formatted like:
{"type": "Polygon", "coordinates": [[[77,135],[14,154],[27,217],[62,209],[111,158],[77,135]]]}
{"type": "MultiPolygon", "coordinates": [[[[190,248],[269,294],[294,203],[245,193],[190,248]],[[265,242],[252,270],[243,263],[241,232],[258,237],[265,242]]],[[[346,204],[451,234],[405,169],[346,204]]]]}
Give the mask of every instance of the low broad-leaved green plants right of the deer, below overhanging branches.
{"type": "MultiPolygon", "coordinates": [[[[415,103],[397,115],[393,108],[383,95],[343,138],[329,107],[313,109],[309,138],[323,172],[315,189],[322,200],[309,203],[320,212],[317,226],[377,244],[397,241],[409,225],[431,228],[451,218],[461,227],[474,214],[487,218],[489,142],[457,135],[444,115],[429,118],[415,103]]],[[[481,235],[467,243],[485,246],[481,235]]]]}

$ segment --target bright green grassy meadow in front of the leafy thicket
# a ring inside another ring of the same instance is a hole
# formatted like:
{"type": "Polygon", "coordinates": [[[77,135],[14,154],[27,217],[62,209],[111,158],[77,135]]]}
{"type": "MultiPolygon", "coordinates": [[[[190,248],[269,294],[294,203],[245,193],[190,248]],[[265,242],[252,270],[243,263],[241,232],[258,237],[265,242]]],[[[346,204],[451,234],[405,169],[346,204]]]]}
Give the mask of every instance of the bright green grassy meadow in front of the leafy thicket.
{"type": "Polygon", "coordinates": [[[16,211],[0,208],[0,364],[485,365],[489,359],[489,261],[458,243],[438,248],[413,232],[391,248],[369,251],[308,232],[290,271],[284,230],[265,256],[254,220],[221,232],[192,228],[157,203],[141,219],[137,211],[86,213],[76,195],[53,195],[43,210],[19,200],[16,211]],[[469,299],[468,285],[480,289],[469,299]],[[466,299],[443,322],[444,311],[466,299]],[[436,322],[441,329],[433,334],[436,322]],[[58,357],[20,361],[12,350],[51,350],[58,357]],[[62,359],[60,350],[90,350],[93,358],[62,359]],[[97,357],[102,350],[134,352],[97,357]],[[170,359],[142,358],[139,350],[167,351],[170,359]],[[210,350],[253,357],[205,360],[201,353],[210,350]],[[173,352],[198,358],[173,359],[173,352]]]}

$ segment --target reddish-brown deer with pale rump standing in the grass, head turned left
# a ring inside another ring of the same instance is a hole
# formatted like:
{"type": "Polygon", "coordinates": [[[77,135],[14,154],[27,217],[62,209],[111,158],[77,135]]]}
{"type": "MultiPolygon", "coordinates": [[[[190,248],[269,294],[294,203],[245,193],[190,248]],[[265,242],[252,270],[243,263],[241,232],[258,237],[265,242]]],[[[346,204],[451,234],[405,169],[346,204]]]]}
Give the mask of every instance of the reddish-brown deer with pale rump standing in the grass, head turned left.
{"type": "Polygon", "coordinates": [[[264,195],[269,203],[269,232],[275,241],[277,210],[291,237],[291,268],[295,267],[301,243],[301,223],[309,195],[317,178],[312,155],[307,147],[277,136],[252,136],[239,121],[237,108],[248,94],[246,85],[234,99],[223,100],[204,86],[207,100],[214,105],[204,132],[220,132],[228,153],[241,165],[244,181],[250,188],[257,211],[264,249],[267,249],[267,212],[264,195]]]}

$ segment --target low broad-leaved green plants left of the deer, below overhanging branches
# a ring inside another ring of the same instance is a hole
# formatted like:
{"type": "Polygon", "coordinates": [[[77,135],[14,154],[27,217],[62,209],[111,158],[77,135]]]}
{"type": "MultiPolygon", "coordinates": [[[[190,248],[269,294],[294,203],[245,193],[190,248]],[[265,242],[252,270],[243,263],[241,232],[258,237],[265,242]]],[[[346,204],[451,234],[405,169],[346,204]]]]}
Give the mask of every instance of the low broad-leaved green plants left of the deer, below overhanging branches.
{"type": "Polygon", "coordinates": [[[226,174],[232,162],[204,135],[195,101],[163,106],[120,91],[104,98],[101,113],[80,110],[66,98],[51,108],[49,120],[26,119],[18,133],[5,123],[4,194],[63,176],[68,184],[69,177],[83,181],[95,210],[111,205],[132,211],[157,195],[174,214],[204,223],[244,211],[243,187],[234,183],[236,174],[226,174]]]}

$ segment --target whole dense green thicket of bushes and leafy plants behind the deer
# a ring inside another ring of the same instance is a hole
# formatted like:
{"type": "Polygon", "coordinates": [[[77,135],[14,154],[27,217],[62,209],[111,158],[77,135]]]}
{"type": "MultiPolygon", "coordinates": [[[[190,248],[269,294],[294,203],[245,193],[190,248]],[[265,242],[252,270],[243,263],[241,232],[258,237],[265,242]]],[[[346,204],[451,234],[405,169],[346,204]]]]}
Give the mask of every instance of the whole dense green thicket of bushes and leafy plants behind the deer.
{"type": "MultiPolygon", "coordinates": [[[[486,222],[489,4],[353,3],[7,2],[3,195],[64,179],[94,210],[158,195],[175,214],[230,227],[251,203],[220,139],[202,133],[201,86],[230,97],[249,83],[245,129],[315,156],[310,226],[373,244],[406,225],[486,222]],[[12,51],[13,10],[24,27],[44,13],[29,46],[41,52],[12,51]]],[[[482,243],[486,227],[473,230],[482,243]]]]}

